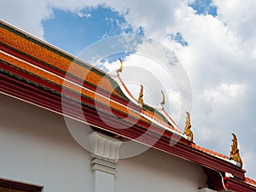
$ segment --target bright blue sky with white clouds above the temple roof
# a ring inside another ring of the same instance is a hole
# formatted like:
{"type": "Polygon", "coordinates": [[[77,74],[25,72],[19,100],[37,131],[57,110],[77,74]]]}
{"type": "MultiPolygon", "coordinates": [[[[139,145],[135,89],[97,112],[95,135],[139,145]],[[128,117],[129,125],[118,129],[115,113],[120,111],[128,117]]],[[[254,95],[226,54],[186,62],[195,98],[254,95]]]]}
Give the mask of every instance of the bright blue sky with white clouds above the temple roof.
{"type": "MultiPolygon", "coordinates": [[[[247,177],[255,179],[256,1],[146,2],[0,0],[0,19],[72,55],[79,55],[97,41],[123,34],[151,38],[172,49],[192,90],[195,143],[229,155],[231,133],[236,133],[247,177]]],[[[147,59],[123,55],[127,63],[132,60],[150,68],[153,63],[147,59]],[[142,64],[145,62],[147,65],[142,64]]],[[[117,66],[114,61],[113,65],[109,61],[99,65],[108,72],[117,66]]],[[[164,76],[152,68],[155,77],[164,76]]],[[[166,110],[177,119],[180,94],[172,85],[166,88],[171,103],[166,110]]],[[[154,93],[154,89],[148,87],[148,92],[154,93]]]]}

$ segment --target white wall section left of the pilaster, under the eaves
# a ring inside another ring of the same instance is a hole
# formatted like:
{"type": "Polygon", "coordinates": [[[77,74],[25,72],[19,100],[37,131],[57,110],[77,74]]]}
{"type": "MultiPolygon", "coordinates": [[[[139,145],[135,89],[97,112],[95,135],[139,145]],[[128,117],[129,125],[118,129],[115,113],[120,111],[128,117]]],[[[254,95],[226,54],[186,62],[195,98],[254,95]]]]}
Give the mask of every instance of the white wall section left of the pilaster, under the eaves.
{"type": "Polygon", "coordinates": [[[61,115],[0,94],[0,177],[46,192],[92,191],[90,154],[61,115]]]}

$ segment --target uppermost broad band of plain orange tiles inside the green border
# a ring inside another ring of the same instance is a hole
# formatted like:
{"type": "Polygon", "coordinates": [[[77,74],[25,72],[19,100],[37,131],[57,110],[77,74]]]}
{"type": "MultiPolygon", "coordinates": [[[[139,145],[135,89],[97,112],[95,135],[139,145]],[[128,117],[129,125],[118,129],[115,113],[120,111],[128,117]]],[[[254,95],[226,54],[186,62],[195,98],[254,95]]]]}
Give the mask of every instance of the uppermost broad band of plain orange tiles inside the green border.
{"type": "MultiPolygon", "coordinates": [[[[104,90],[108,90],[110,93],[119,95],[116,90],[113,89],[112,84],[108,79],[102,77],[101,75],[94,73],[86,67],[83,67],[75,62],[75,58],[65,58],[63,55],[57,54],[49,48],[45,48],[42,45],[36,44],[26,38],[17,35],[15,32],[10,32],[9,30],[0,27],[0,41],[3,44],[8,45],[14,49],[17,49],[26,55],[31,55],[39,61],[44,61],[51,67],[61,70],[62,72],[71,73],[79,79],[84,79],[90,84],[95,84],[96,86],[102,87],[104,90]]],[[[90,66],[89,64],[84,64],[84,66],[90,66]]],[[[91,66],[91,68],[93,68],[91,66]]]]}

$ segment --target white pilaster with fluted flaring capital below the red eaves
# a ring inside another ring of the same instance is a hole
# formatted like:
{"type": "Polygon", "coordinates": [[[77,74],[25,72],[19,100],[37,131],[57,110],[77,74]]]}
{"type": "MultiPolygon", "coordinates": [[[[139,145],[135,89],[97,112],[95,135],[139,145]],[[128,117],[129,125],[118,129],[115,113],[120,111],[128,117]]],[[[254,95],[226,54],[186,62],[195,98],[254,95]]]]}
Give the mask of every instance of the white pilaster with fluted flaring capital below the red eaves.
{"type": "Polygon", "coordinates": [[[114,192],[114,175],[122,142],[94,131],[90,133],[90,143],[94,192],[114,192]]]}

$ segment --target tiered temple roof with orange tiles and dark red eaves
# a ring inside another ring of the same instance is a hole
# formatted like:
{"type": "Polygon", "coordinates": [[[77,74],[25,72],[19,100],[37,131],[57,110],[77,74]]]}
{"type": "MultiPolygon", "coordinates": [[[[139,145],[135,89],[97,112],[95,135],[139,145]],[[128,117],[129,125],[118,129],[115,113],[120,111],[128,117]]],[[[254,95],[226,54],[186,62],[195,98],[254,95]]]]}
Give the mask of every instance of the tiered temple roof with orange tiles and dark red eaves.
{"type": "MultiPolygon", "coordinates": [[[[105,73],[3,20],[0,20],[0,62],[3,94],[80,121],[86,114],[85,123],[129,139],[149,130],[150,137],[160,137],[154,148],[201,166],[230,172],[241,182],[255,186],[255,181],[244,177],[245,171],[230,157],[189,141],[165,110],[148,104],[142,109],[119,76],[105,73]],[[65,113],[63,101],[67,107],[65,113]],[[79,105],[83,115],[77,110],[79,105]],[[108,113],[109,108],[112,113],[108,113]],[[100,118],[99,113],[102,113],[100,118]],[[101,118],[108,120],[108,125],[101,118]],[[136,124],[132,123],[134,120],[136,124]],[[115,129],[120,125],[129,128],[115,129]],[[175,139],[177,144],[170,146],[170,140],[175,139]]],[[[148,144],[150,137],[139,142],[148,144]]]]}

